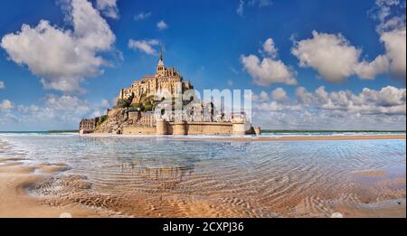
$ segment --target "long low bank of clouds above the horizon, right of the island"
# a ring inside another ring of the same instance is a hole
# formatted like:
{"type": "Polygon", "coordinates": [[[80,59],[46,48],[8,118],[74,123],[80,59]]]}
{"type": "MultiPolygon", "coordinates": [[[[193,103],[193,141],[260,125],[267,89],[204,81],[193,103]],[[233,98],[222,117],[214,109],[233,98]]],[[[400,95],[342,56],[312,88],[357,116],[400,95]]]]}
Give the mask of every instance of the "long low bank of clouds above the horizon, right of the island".
{"type": "MultiPolygon", "coordinates": [[[[381,90],[364,88],[356,94],[349,90],[327,91],[323,86],[313,92],[298,87],[297,99],[289,99],[282,88],[274,91],[270,101],[253,100],[253,122],[262,128],[405,128],[405,89],[392,86],[381,90]]],[[[252,97],[258,98],[259,95],[253,94],[252,97]]]]}

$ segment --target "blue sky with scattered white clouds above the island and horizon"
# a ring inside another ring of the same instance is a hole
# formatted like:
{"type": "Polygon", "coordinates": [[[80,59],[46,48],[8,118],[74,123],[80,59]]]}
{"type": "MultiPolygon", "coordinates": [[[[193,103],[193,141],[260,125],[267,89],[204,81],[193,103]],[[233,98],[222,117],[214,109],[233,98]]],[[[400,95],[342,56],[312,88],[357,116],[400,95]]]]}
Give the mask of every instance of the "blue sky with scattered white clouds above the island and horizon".
{"type": "Polygon", "coordinates": [[[111,107],[119,89],[154,73],[156,67],[157,44],[150,43],[155,52],[147,52],[146,47],[130,48],[130,40],[161,42],[166,65],[174,65],[198,90],[253,90],[259,117],[253,121],[263,127],[318,128],[321,121],[326,124],[322,128],[405,127],[405,46],[401,46],[405,45],[405,1],[87,3],[4,1],[0,8],[0,130],[75,128],[80,118],[111,107]],[[80,7],[92,12],[94,20],[82,26],[81,34],[73,24],[72,10],[80,7]],[[68,35],[72,46],[58,44],[52,37],[36,42],[41,45],[27,42],[44,32],[21,33],[22,25],[34,29],[41,20],[49,22],[46,29],[68,35]],[[92,29],[96,22],[103,30],[92,29]],[[160,29],[160,22],[165,27],[160,29]],[[64,67],[70,58],[48,62],[58,50],[74,52],[79,45],[75,43],[83,43],[78,39],[92,31],[94,39],[110,40],[83,49],[92,54],[90,58],[72,59],[78,60],[73,75],[66,71],[67,64],[64,67]],[[12,34],[14,38],[7,38],[12,34]],[[269,39],[270,52],[265,43],[269,39]],[[21,47],[17,42],[28,44],[21,47]],[[43,50],[34,49],[39,47],[43,50]],[[380,56],[380,63],[370,64],[380,56]],[[103,63],[95,65],[95,58],[103,63]],[[270,67],[262,67],[261,61],[270,67]],[[281,73],[276,72],[279,69],[281,73]],[[299,94],[298,88],[307,92],[299,94]],[[318,88],[323,90],[317,92],[318,88]],[[368,90],[362,94],[364,89],[368,90]],[[338,99],[346,93],[345,100],[338,99]],[[307,102],[308,97],[312,99],[307,102]],[[63,102],[67,103],[63,108],[55,109],[63,102]],[[66,112],[66,118],[61,118],[66,112]]]}

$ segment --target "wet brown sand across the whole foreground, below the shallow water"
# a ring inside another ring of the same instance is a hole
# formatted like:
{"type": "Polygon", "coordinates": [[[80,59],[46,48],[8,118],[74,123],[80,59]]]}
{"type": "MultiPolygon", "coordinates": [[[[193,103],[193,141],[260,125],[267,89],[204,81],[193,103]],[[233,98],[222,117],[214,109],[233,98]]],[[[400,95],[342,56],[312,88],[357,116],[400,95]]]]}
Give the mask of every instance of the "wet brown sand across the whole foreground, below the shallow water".
{"type": "MultiPolygon", "coordinates": [[[[0,152],[2,148],[0,142],[0,152]]],[[[0,158],[0,217],[60,217],[64,212],[72,217],[331,217],[337,213],[343,217],[406,217],[405,174],[387,178],[382,169],[353,173],[361,183],[369,181],[355,186],[361,193],[358,197],[344,193],[327,200],[329,197],[322,197],[324,189],[315,189],[320,196],[280,195],[277,198],[287,201],[272,204],[269,199],[259,201],[259,196],[237,193],[171,194],[168,190],[177,184],[171,182],[151,192],[106,194],[93,189],[86,175],[63,174],[67,165],[24,165],[24,161],[21,156],[0,158]],[[377,190],[370,187],[372,178],[377,178],[377,190]],[[373,191],[383,192],[383,198],[371,200],[377,194],[373,191]]],[[[145,181],[157,182],[150,175],[145,181]]]]}

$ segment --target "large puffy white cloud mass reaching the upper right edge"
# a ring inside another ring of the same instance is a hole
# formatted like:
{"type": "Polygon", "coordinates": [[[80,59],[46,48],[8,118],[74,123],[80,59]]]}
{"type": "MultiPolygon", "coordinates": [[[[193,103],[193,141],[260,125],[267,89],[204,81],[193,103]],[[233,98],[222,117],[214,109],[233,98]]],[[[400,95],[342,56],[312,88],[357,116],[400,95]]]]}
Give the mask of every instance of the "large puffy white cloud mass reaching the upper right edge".
{"type": "Polygon", "coordinates": [[[373,61],[360,60],[362,50],[348,42],[342,34],[317,33],[312,38],[295,42],[291,49],[299,60],[299,66],[315,69],[330,82],[343,82],[356,75],[361,79],[374,80],[382,73],[406,80],[406,17],[405,1],[376,0],[372,11],[379,21],[376,27],[385,52],[373,61]]]}

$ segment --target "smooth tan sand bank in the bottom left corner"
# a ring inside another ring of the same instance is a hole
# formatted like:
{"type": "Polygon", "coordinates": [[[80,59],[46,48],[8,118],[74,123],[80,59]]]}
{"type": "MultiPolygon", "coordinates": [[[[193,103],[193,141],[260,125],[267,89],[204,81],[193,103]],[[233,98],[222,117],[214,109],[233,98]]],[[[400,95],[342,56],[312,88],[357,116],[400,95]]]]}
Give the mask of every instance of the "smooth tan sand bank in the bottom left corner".
{"type": "MultiPolygon", "coordinates": [[[[4,150],[0,142],[0,152],[4,150]]],[[[99,216],[99,212],[79,204],[49,205],[44,199],[27,194],[27,188],[43,181],[45,175],[56,174],[65,165],[23,165],[25,159],[9,156],[0,158],[0,218],[58,218],[69,216],[99,216]]]]}

